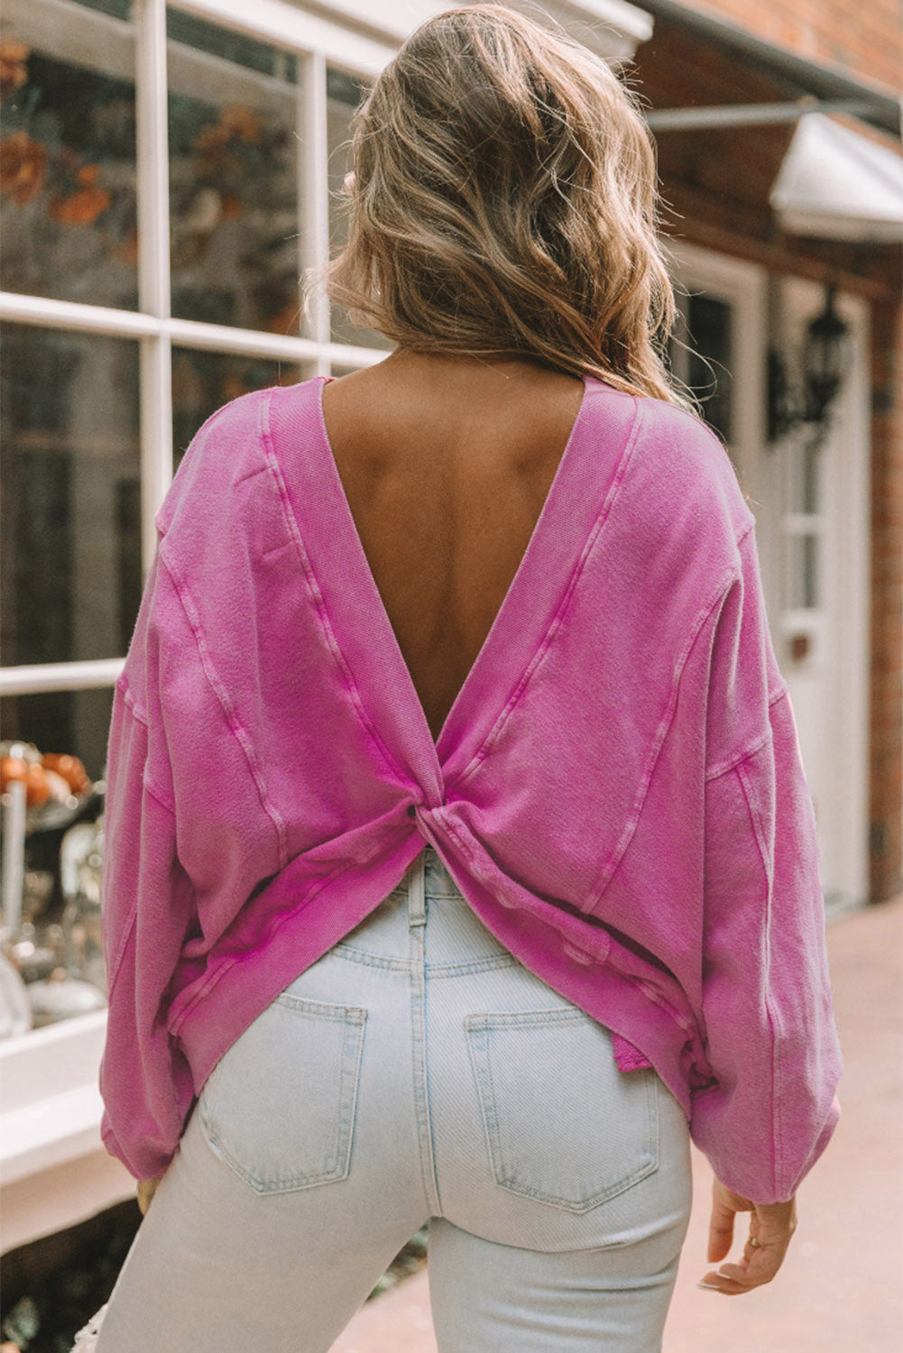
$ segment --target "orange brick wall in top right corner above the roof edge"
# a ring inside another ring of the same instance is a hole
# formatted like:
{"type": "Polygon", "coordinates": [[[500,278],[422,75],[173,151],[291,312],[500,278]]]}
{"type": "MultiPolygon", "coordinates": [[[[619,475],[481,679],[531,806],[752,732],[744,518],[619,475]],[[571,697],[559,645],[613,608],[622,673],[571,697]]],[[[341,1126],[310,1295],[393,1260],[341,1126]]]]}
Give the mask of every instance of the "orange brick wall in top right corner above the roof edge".
{"type": "Polygon", "coordinates": [[[693,0],[800,57],[899,91],[903,81],[900,0],[693,0]]]}

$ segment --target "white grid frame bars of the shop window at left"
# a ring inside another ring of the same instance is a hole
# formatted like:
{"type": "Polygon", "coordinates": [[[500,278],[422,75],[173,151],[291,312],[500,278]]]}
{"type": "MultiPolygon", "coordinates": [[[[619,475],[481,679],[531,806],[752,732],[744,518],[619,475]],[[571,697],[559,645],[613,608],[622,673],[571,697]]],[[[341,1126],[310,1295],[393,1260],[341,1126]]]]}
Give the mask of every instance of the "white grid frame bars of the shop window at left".
{"type": "MultiPolygon", "coordinates": [[[[60,0],[45,0],[58,9],[60,0]]],[[[320,267],[329,257],[329,179],[326,142],[326,66],[359,78],[374,78],[395,47],[311,15],[286,0],[171,0],[171,7],[259,42],[272,43],[298,58],[298,229],[302,267],[320,267]]],[[[11,9],[18,8],[15,3],[11,9]]],[[[35,7],[32,15],[39,15],[35,7]]],[[[11,15],[7,11],[7,20],[11,15]]],[[[141,570],[142,586],[156,549],[154,517],[172,482],[172,348],[269,357],[302,365],[310,375],[329,375],[333,365],[360,368],[386,356],[382,348],[330,341],[329,303],[313,299],[303,337],[176,319],[171,314],[169,166],[167,0],[133,0],[133,23],[96,11],[79,12],[84,26],[106,23],[120,41],[134,34],[138,203],[138,310],[115,310],[76,302],[0,292],[0,319],[69,333],[137,340],[139,349],[141,570]]],[[[41,22],[32,18],[34,24],[41,22]]],[[[112,687],[122,658],[89,662],[35,663],[0,667],[0,695],[50,690],[112,687]]]]}

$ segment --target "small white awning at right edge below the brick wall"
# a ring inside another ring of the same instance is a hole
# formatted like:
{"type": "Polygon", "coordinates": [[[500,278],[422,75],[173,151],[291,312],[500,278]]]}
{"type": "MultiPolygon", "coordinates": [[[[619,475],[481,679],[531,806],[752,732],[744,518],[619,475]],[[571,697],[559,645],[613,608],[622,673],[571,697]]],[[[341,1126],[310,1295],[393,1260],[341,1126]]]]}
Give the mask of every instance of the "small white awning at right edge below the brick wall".
{"type": "Polygon", "coordinates": [[[824,114],[808,112],[769,200],[791,234],[895,244],[903,241],[903,158],[824,114]]]}

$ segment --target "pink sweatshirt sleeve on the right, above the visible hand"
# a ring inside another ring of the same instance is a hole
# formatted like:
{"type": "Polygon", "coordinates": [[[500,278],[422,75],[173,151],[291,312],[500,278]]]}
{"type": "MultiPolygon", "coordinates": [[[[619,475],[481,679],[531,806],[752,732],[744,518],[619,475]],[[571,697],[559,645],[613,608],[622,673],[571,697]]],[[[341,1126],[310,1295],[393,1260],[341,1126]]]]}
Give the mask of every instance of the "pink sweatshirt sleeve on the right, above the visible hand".
{"type": "Polygon", "coordinates": [[[703,1015],[718,1085],[693,1139],[728,1188],[784,1201],[829,1143],[842,1070],[812,798],[766,624],[755,533],[711,658],[703,1015]]]}

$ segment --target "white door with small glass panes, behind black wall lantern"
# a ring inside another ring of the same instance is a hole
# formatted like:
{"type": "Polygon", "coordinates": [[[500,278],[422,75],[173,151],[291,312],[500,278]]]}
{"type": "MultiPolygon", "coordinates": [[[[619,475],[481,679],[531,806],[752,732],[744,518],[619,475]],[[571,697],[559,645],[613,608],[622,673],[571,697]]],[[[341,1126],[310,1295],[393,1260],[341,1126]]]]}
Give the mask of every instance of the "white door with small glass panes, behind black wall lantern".
{"type": "MultiPolygon", "coordinates": [[[[824,287],[773,283],[772,329],[801,379],[810,322],[824,287]]],[[[868,310],[841,294],[852,365],[823,437],[801,425],[768,452],[774,520],[781,670],[791,687],[812,792],[830,912],[868,901],[869,405],[868,310]]]]}

